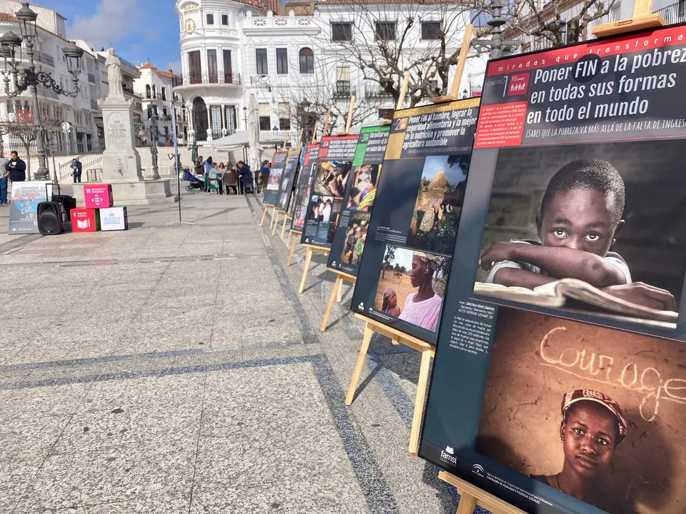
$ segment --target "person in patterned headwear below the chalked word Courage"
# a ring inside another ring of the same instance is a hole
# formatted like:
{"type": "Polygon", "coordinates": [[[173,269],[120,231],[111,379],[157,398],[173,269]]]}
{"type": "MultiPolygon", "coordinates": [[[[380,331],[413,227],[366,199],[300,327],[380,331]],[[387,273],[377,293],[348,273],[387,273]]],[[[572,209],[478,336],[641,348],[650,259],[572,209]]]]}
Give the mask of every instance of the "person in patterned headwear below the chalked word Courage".
{"type": "MultiPolygon", "coordinates": [[[[532,478],[589,505],[608,510],[613,503],[603,478],[612,473],[617,445],[627,435],[620,405],[609,396],[577,389],[562,397],[560,441],[565,453],[562,470],[555,475],[532,478]]],[[[620,512],[616,506],[609,512],[620,512]]]]}

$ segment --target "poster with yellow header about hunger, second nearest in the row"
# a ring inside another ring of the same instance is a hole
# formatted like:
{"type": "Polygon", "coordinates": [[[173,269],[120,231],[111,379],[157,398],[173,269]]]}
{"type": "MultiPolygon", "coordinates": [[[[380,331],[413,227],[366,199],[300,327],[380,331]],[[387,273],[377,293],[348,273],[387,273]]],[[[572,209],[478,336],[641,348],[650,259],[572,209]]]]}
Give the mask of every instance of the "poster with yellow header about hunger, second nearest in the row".
{"type": "Polygon", "coordinates": [[[352,310],[434,344],[479,101],[396,111],[352,310]]]}

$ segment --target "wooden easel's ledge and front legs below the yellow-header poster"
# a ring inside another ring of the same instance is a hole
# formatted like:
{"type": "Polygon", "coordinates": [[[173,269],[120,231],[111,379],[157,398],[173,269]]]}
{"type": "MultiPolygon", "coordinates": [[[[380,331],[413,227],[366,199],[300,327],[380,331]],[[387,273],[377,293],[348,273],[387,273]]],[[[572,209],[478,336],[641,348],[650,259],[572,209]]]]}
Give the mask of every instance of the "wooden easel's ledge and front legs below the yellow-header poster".
{"type": "Polygon", "coordinates": [[[362,338],[362,348],[359,350],[355,369],[352,372],[352,380],[348,388],[348,393],[345,395],[345,404],[352,405],[352,400],[355,398],[355,391],[357,390],[357,383],[359,376],[362,373],[362,366],[364,366],[364,359],[367,358],[367,351],[369,351],[369,341],[372,341],[374,332],[380,333],[382,336],[387,336],[392,343],[402,344],[412,350],[422,353],[422,365],[419,366],[419,381],[417,381],[417,395],[414,398],[414,415],[412,416],[412,430],[409,433],[409,453],[417,455],[419,448],[419,426],[422,424],[422,413],[424,413],[424,395],[427,392],[427,383],[429,381],[429,364],[434,356],[434,347],[429,343],[425,343],[421,339],[414,336],[409,336],[395,328],[382,325],[377,321],[355,314],[358,318],[365,321],[364,338],[362,338]]]}

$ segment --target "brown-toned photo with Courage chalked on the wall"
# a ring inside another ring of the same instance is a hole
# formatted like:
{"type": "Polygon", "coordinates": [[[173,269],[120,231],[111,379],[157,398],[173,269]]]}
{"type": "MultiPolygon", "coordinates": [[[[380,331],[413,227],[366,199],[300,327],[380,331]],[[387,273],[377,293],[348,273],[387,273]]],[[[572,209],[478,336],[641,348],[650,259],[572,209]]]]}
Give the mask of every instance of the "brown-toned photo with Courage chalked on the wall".
{"type": "Polygon", "coordinates": [[[501,308],[477,453],[612,514],[683,513],[685,350],[501,308]]]}

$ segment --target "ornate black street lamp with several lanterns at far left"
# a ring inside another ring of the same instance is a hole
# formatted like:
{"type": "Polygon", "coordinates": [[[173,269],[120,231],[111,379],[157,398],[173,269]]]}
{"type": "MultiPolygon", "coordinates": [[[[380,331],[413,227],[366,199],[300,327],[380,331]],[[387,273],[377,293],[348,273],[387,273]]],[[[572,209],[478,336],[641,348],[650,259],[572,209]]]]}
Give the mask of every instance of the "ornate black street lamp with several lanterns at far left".
{"type": "MultiPolygon", "coordinates": [[[[34,174],[35,180],[48,180],[49,172],[46,166],[45,147],[46,141],[45,127],[41,124],[41,110],[38,104],[38,85],[44,88],[51,89],[56,94],[63,96],[71,96],[76,98],[79,94],[79,74],[81,74],[81,57],[84,51],[76,46],[73,42],[62,49],[66,58],[66,66],[71,80],[74,82],[74,89],[66,91],[56,83],[56,81],[44,71],[36,71],[36,64],[34,63],[34,44],[38,41],[38,26],[36,19],[38,14],[31,11],[29,4],[23,2],[21,9],[14,13],[19,19],[19,31],[21,37],[9,31],[0,37],[0,53],[4,60],[4,70],[0,71],[3,76],[5,94],[9,97],[19,96],[24,91],[29,91],[34,101],[34,127],[36,129],[36,153],[38,154],[38,170],[34,174]],[[19,69],[19,61],[21,61],[21,44],[26,44],[26,54],[29,56],[29,66],[19,69]],[[17,53],[19,52],[19,56],[17,53]],[[19,57],[19,59],[18,59],[19,57]],[[12,86],[10,87],[10,80],[12,86]]],[[[54,177],[56,180],[56,176],[54,177]]]]}

